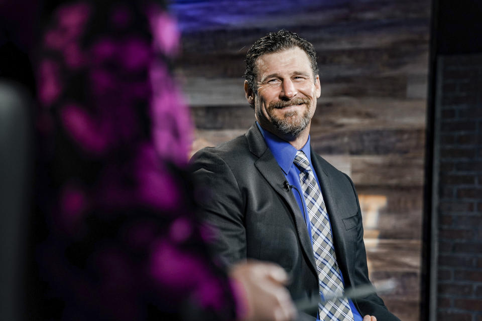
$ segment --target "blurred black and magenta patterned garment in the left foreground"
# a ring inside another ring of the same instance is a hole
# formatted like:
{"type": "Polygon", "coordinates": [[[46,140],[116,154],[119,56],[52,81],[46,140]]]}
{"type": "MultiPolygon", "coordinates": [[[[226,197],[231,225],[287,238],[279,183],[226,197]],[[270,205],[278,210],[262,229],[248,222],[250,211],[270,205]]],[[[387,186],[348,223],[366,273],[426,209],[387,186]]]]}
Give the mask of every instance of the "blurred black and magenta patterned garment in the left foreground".
{"type": "Polygon", "coordinates": [[[70,2],[41,47],[33,319],[233,319],[184,172],[175,21],[154,1],[70,2]]]}

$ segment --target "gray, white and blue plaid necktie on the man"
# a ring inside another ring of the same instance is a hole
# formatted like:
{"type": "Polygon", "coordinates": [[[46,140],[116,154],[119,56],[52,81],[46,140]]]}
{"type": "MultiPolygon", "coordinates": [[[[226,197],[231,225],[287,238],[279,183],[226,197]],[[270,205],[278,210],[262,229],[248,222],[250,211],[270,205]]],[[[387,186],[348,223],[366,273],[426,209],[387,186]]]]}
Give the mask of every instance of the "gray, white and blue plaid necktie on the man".
{"type": "MultiPolygon", "coordinates": [[[[343,293],[341,273],[336,263],[328,214],[321,190],[311,171],[310,163],[305,153],[299,150],[293,163],[300,169],[300,183],[305,197],[306,208],[311,222],[313,238],[313,253],[315,255],[320,293],[323,296],[343,293]]],[[[318,305],[320,320],[353,321],[353,313],[346,298],[326,301],[318,305]]]]}

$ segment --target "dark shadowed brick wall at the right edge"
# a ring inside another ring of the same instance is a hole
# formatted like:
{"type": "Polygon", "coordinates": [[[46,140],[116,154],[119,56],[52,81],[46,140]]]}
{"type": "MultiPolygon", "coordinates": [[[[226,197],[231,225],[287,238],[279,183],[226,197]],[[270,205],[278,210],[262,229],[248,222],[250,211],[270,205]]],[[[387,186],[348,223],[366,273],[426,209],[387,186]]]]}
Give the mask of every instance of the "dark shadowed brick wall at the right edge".
{"type": "Polygon", "coordinates": [[[482,321],[482,55],[437,65],[437,319],[482,321]]]}

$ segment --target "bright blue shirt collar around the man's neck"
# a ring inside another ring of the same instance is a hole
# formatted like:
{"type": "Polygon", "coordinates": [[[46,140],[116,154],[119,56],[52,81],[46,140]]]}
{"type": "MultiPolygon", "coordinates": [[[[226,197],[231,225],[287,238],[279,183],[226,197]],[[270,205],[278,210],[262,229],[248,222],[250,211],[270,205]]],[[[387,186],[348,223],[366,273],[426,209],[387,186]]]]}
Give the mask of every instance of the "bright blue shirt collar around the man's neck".
{"type": "MultiPolygon", "coordinates": [[[[275,156],[276,162],[278,162],[280,168],[283,170],[285,175],[287,175],[291,166],[293,165],[293,161],[298,150],[286,140],[283,140],[268,130],[263,129],[258,121],[256,124],[258,125],[258,128],[260,128],[261,134],[265,138],[266,144],[273,153],[273,156],[275,156]]],[[[308,136],[308,140],[300,150],[306,154],[306,157],[308,157],[308,162],[311,164],[310,136],[308,136]]]]}

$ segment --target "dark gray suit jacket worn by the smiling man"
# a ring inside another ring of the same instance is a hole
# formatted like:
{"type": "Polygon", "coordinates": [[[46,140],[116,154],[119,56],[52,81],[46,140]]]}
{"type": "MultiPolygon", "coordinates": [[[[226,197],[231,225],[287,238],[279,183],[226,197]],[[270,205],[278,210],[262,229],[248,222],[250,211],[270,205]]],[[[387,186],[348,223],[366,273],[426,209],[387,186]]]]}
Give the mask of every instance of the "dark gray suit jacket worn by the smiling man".
{"type": "MultiPolygon", "coordinates": [[[[312,149],[313,150],[313,149],[312,149]]],[[[366,284],[367,255],[362,215],[353,183],[312,152],[330,217],[345,288],[366,284]]],[[[201,214],[218,229],[215,250],[228,264],[254,258],[275,262],[292,275],[294,300],[318,298],[318,274],[307,227],[293,192],[256,123],[245,135],[206,147],[191,159],[195,181],[208,192],[201,214]]],[[[353,301],[381,321],[399,320],[376,294],[353,301]]]]}

